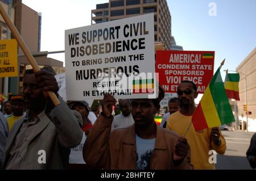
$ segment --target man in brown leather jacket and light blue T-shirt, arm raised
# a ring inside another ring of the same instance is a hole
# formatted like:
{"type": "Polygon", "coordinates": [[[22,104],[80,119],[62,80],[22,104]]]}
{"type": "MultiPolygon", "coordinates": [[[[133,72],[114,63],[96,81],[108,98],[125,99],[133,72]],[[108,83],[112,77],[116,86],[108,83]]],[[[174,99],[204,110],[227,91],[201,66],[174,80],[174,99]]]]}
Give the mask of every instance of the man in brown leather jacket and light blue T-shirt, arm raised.
{"type": "Polygon", "coordinates": [[[106,94],[102,113],[85,141],[85,162],[103,169],[191,169],[186,140],[155,123],[155,113],[164,97],[163,89],[159,90],[156,99],[132,99],[131,113],[135,123],[112,132],[115,99],[106,94]]]}

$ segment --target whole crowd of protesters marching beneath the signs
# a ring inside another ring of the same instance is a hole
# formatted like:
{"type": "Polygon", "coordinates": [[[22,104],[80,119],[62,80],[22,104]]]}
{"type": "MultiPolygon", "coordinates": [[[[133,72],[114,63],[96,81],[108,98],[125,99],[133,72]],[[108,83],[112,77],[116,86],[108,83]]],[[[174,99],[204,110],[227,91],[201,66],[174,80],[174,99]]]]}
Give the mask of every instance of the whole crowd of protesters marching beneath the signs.
{"type": "MultiPolygon", "coordinates": [[[[65,103],[58,90],[54,74],[26,70],[23,95],[11,96],[0,112],[0,169],[214,169],[209,150],[225,153],[220,128],[189,127],[198,95],[193,82],[180,83],[160,126],[154,117],[164,98],[161,86],[155,99],[117,104],[106,94],[92,107],[85,100],[65,103]]],[[[252,167],[255,155],[254,135],[247,151],[252,167]]]]}

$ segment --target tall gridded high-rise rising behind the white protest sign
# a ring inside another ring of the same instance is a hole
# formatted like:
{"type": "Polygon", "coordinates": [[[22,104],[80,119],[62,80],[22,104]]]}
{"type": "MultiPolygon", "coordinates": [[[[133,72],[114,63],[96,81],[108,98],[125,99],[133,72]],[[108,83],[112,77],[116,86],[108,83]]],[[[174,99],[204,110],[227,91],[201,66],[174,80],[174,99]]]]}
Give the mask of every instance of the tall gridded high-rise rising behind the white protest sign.
{"type": "Polygon", "coordinates": [[[171,49],[171,14],[166,0],[109,0],[92,10],[92,22],[102,23],[154,12],[155,41],[171,49]]]}

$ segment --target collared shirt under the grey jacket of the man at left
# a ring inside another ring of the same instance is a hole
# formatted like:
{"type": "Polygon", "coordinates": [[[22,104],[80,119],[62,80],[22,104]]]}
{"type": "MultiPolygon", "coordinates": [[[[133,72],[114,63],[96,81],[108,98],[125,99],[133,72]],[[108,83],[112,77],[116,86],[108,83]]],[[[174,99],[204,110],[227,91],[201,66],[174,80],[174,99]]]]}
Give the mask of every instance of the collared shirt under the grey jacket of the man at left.
{"type": "MultiPolygon", "coordinates": [[[[39,115],[43,114],[41,112],[39,115]]],[[[30,119],[30,112],[24,117],[24,121],[19,129],[19,132],[16,134],[13,146],[10,150],[10,158],[6,164],[5,169],[19,169],[24,167],[24,159],[26,158],[27,147],[31,136],[35,132],[36,124],[40,121],[39,115],[30,119]]]]}

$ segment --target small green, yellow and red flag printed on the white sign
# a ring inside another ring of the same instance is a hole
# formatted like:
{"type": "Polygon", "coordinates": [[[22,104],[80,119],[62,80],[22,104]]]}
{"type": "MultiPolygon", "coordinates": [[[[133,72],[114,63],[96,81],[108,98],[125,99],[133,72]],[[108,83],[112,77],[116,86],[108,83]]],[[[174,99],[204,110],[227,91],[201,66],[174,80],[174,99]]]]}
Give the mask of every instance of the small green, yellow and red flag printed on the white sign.
{"type": "Polygon", "coordinates": [[[154,79],[133,80],[133,94],[154,92],[154,79]]]}

